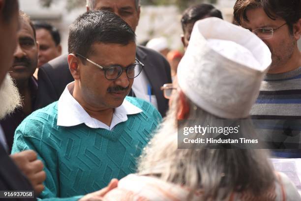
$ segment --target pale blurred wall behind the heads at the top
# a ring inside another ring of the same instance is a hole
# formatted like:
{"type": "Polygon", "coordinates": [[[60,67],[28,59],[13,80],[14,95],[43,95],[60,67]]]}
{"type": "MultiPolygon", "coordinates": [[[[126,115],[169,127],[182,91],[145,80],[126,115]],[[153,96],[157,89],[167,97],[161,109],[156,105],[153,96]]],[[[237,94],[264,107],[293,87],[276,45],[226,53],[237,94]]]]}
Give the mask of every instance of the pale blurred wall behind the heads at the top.
{"type": "MultiPolygon", "coordinates": [[[[231,22],[233,19],[235,0],[141,0],[142,11],[136,29],[137,42],[146,44],[152,38],[165,37],[168,48],[181,51],[181,14],[184,9],[196,3],[213,3],[221,10],[225,20],[231,22]]],[[[68,26],[79,13],[85,12],[85,6],[82,0],[20,1],[20,8],[30,15],[31,20],[46,21],[60,31],[63,54],[67,53],[68,26]]]]}

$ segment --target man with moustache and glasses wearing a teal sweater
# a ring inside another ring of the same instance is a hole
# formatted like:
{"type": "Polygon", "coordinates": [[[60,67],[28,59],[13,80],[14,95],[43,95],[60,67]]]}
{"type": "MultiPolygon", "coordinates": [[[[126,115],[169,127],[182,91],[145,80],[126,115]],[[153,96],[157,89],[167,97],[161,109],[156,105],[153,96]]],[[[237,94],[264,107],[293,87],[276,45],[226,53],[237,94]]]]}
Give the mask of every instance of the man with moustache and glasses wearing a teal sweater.
{"type": "Polygon", "coordinates": [[[44,162],[41,199],[88,200],[112,178],[136,171],[161,116],[146,101],[125,97],[143,68],[135,49],[134,31],[109,11],[87,12],[71,25],[68,64],[75,81],[58,102],[20,124],[12,148],[33,149],[44,162]]]}

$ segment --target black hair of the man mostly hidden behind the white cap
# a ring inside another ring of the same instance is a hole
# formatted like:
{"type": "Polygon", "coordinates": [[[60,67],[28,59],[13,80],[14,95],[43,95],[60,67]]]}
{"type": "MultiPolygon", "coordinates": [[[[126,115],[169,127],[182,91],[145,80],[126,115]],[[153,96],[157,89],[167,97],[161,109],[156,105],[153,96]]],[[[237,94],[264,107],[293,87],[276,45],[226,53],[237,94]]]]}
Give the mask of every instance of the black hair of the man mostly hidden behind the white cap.
{"type": "Polygon", "coordinates": [[[208,3],[201,3],[187,8],[183,12],[181,18],[183,31],[185,31],[184,28],[188,24],[195,23],[196,21],[204,19],[206,17],[217,17],[223,19],[220,10],[216,9],[213,5],[208,3]]]}

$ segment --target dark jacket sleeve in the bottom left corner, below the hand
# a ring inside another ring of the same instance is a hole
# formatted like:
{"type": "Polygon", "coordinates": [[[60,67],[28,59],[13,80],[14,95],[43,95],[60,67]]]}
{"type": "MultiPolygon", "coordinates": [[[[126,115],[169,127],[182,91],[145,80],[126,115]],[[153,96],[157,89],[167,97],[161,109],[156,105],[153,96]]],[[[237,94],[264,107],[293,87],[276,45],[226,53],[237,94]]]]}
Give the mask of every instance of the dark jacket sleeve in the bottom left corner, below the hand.
{"type": "MultiPolygon", "coordinates": [[[[0,190],[1,191],[33,191],[30,182],[20,172],[0,144],[0,190]]],[[[0,199],[2,200],[2,199],[0,199]]],[[[3,199],[5,200],[5,199],[3,199]]],[[[8,201],[35,201],[36,199],[7,199],[8,201]]]]}

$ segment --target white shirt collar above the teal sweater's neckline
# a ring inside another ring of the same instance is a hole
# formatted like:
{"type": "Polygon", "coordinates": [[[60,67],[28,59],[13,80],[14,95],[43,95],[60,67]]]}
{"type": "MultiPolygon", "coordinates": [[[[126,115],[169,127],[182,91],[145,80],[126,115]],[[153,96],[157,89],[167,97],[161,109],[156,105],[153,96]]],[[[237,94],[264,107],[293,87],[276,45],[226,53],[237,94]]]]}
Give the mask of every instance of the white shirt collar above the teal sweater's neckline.
{"type": "Polygon", "coordinates": [[[104,128],[112,130],[117,124],[126,121],[127,115],[141,113],[142,110],[127,100],[115,108],[111,126],[91,117],[84,108],[71,95],[74,89],[74,82],[68,84],[60,96],[58,102],[58,126],[76,126],[85,123],[90,128],[104,128]]]}

